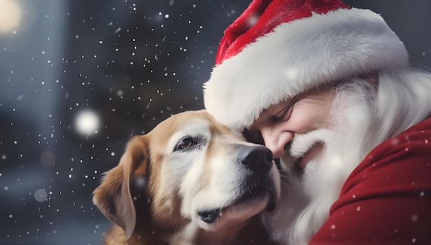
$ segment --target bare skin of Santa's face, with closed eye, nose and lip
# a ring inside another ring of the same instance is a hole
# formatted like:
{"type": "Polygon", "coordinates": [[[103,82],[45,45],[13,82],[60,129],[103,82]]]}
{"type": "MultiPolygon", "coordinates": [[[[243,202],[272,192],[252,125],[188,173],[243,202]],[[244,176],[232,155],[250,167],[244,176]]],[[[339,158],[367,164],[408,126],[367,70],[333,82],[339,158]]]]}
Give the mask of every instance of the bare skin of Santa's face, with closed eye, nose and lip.
{"type": "MultiPolygon", "coordinates": [[[[331,93],[332,86],[321,86],[270,106],[249,128],[246,137],[251,139],[253,135],[260,136],[264,142],[253,141],[264,143],[275,158],[284,156],[288,153],[288,145],[295,135],[330,127],[327,119],[331,93]]],[[[322,143],[316,142],[309,147],[297,161],[299,167],[305,167],[308,161],[322,153],[322,143]]]]}

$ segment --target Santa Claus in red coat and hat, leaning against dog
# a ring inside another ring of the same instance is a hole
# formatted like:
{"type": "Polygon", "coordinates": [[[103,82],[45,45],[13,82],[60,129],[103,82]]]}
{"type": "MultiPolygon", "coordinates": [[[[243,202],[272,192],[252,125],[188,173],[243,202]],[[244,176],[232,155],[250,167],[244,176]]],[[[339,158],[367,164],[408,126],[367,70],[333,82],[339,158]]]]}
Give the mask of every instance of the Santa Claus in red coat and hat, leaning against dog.
{"type": "Polygon", "coordinates": [[[280,160],[280,244],[431,244],[431,74],[379,14],[255,0],[224,32],[209,113],[280,160]]]}

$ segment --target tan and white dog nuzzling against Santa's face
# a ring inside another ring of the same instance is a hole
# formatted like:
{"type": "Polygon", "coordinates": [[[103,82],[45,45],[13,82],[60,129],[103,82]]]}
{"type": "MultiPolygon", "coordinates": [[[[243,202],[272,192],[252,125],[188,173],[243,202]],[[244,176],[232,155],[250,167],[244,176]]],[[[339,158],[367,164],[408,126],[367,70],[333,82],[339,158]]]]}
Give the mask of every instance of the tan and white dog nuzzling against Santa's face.
{"type": "Polygon", "coordinates": [[[257,213],[279,197],[271,151],[198,110],[132,138],[93,201],[116,224],[105,244],[267,244],[257,213]]]}

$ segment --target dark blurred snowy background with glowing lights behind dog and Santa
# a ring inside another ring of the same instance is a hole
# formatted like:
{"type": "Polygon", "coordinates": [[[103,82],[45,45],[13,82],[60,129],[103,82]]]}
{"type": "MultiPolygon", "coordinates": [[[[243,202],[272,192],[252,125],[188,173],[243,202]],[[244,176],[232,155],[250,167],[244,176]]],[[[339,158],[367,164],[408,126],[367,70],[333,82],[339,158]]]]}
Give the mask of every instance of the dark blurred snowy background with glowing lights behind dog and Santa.
{"type": "MultiPolygon", "coordinates": [[[[380,13],[430,70],[430,1],[345,2],[380,13]]],[[[204,107],[220,38],[248,4],[0,0],[0,244],[102,244],[101,174],[133,135],[204,107]]]]}

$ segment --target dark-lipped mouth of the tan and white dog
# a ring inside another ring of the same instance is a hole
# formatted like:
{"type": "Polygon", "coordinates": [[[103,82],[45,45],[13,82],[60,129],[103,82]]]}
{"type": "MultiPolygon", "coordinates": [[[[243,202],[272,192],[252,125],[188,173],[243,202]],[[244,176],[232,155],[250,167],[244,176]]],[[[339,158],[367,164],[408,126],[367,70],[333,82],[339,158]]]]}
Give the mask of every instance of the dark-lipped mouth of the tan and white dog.
{"type": "Polygon", "coordinates": [[[213,224],[215,221],[220,218],[222,213],[227,211],[228,209],[232,209],[233,211],[240,211],[242,209],[247,209],[249,207],[253,207],[255,205],[259,205],[266,201],[266,206],[261,211],[273,211],[275,209],[275,202],[277,202],[277,193],[275,191],[275,187],[273,187],[273,183],[271,181],[262,181],[260,185],[255,186],[254,188],[244,188],[242,194],[233,200],[231,204],[226,207],[217,208],[217,209],[206,209],[198,211],[198,215],[200,220],[207,224],[213,224]]]}

